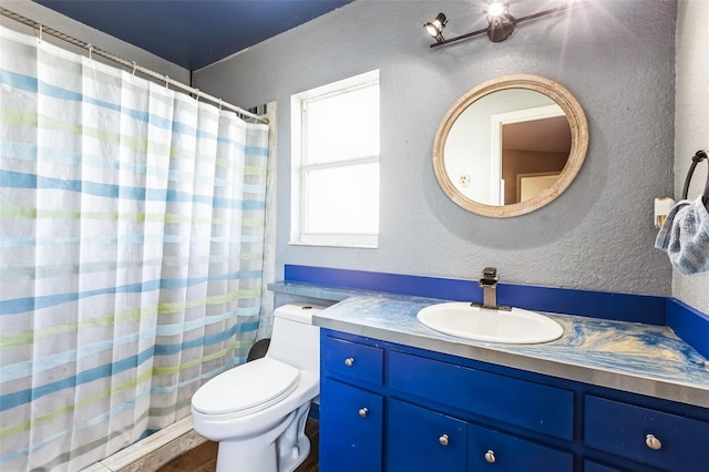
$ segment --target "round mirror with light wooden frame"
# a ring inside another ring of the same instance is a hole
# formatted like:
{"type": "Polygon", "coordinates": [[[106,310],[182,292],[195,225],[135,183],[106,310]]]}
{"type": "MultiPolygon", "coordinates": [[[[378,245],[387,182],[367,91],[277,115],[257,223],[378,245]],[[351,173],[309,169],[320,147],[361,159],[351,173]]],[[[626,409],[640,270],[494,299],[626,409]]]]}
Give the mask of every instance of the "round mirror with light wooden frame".
{"type": "Polygon", "coordinates": [[[433,171],[469,212],[517,216],[564,192],[587,147],[586,115],[566,89],[537,75],[506,75],[451,106],[435,134],[433,171]]]}

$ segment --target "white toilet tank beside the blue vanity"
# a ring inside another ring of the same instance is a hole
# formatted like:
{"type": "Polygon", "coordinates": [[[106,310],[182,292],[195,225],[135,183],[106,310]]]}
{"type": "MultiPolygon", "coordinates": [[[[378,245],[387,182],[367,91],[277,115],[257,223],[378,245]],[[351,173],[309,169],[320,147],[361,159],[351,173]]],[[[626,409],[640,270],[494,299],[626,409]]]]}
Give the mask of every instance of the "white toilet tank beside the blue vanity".
{"type": "Polygon", "coordinates": [[[319,370],[320,328],[312,324],[312,316],[323,309],[311,304],[290,304],[276,308],[266,356],[300,370],[319,370]]]}

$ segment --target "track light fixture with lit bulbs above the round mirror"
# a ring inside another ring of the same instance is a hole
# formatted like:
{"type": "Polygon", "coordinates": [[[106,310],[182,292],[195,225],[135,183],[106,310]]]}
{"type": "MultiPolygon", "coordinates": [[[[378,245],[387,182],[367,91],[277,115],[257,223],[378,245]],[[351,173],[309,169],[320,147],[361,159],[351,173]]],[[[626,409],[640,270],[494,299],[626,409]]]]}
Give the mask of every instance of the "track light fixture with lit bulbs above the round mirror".
{"type": "Polygon", "coordinates": [[[490,41],[500,42],[514,34],[517,23],[566,10],[568,8],[568,3],[569,0],[562,0],[562,4],[558,7],[543,10],[538,13],[527,14],[526,17],[514,18],[510,13],[510,3],[505,0],[490,0],[490,4],[485,10],[483,10],[483,13],[485,13],[487,18],[487,27],[482,30],[471,31],[470,33],[461,34],[451,39],[443,38],[443,29],[448,23],[448,19],[443,13],[436,14],[433,21],[425,23],[423,27],[435,40],[435,42],[431,44],[431,48],[450,44],[482,33],[487,33],[490,41]]]}

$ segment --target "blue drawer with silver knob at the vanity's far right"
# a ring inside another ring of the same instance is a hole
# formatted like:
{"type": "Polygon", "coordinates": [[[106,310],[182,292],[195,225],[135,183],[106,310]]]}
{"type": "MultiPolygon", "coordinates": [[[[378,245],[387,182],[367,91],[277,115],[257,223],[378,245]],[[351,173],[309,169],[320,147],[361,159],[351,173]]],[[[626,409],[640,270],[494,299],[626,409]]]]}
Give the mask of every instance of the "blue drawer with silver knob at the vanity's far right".
{"type": "Polygon", "coordinates": [[[593,396],[585,398],[584,418],[590,448],[671,471],[709,464],[709,423],[593,396]]]}

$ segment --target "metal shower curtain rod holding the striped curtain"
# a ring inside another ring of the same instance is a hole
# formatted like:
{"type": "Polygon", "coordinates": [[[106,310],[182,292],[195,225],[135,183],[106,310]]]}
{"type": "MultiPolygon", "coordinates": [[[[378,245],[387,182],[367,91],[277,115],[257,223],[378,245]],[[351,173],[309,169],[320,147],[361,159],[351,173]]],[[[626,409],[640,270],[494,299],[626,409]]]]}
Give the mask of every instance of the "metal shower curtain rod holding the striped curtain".
{"type": "Polygon", "coordinates": [[[151,69],[144,68],[142,65],[138,65],[137,63],[135,63],[135,61],[129,61],[129,60],[120,58],[120,57],[117,57],[115,54],[112,54],[112,53],[110,53],[107,51],[104,51],[102,49],[95,48],[94,45],[92,45],[92,44],[90,44],[88,42],[78,40],[76,38],[70,37],[69,34],[62,33],[61,31],[54,30],[52,28],[44,27],[44,25],[42,25],[42,23],[40,23],[38,21],[30,20],[29,18],[22,17],[21,14],[18,14],[18,13],[16,13],[13,11],[10,11],[10,10],[8,10],[6,8],[0,7],[0,13],[3,17],[8,17],[11,20],[14,20],[14,21],[18,21],[20,23],[27,24],[28,27],[31,27],[31,28],[38,30],[39,31],[40,41],[42,40],[42,35],[44,33],[47,33],[49,35],[52,35],[54,38],[59,38],[59,39],[61,39],[63,41],[66,41],[66,42],[69,42],[71,44],[74,44],[74,45],[78,45],[80,48],[83,48],[83,49],[88,50],[89,51],[89,57],[91,57],[92,54],[96,54],[96,55],[100,55],[100,57],[102,57],[104,59],[107,59],[110,61],[117,62],[121,65],[124,65],[126,68],[132,69],[133,73],[135,73],[136,71],[141,72],[141,73],[143,73],[143,74],[145,74],[147,76],[151,76],[151,78],[160,81],[160,82],[164,82],[166,85],[173,85],[176,89],[181,89],[181,90],[183,90],[183,91],[185,91],[187,93],[191,93],[193,95],[196,95],[196,96],[198,96],[201,99],[208,100],[209,102],[217,104],[220,109],[222,107],[228,109],[228,110],[232,110],[232,111],[238,113],[242,116],[248,116],[248,117],[257,120],[257,121],[259,121],[261,123],[268,124],[268,119],[266,119],[264,116],[259,116],[257,114],[247,112],[246,110],[240,109],[240,107],[238,107],[236,105],[233,105],[230,103],[223,102],[222,99],[217,99],[216,96],[209,95],[208,93],[204,93],[199,89],[195,89],[193,86],[186,85],[186,84],[184,84],[182,82],[178,82],[176,80],[173,80],[173,79],[168,78],[167,75],[161,75],[161,74],[158,74],[157,72],[155,72],[155,71],[153,71],[151,69]]]}

